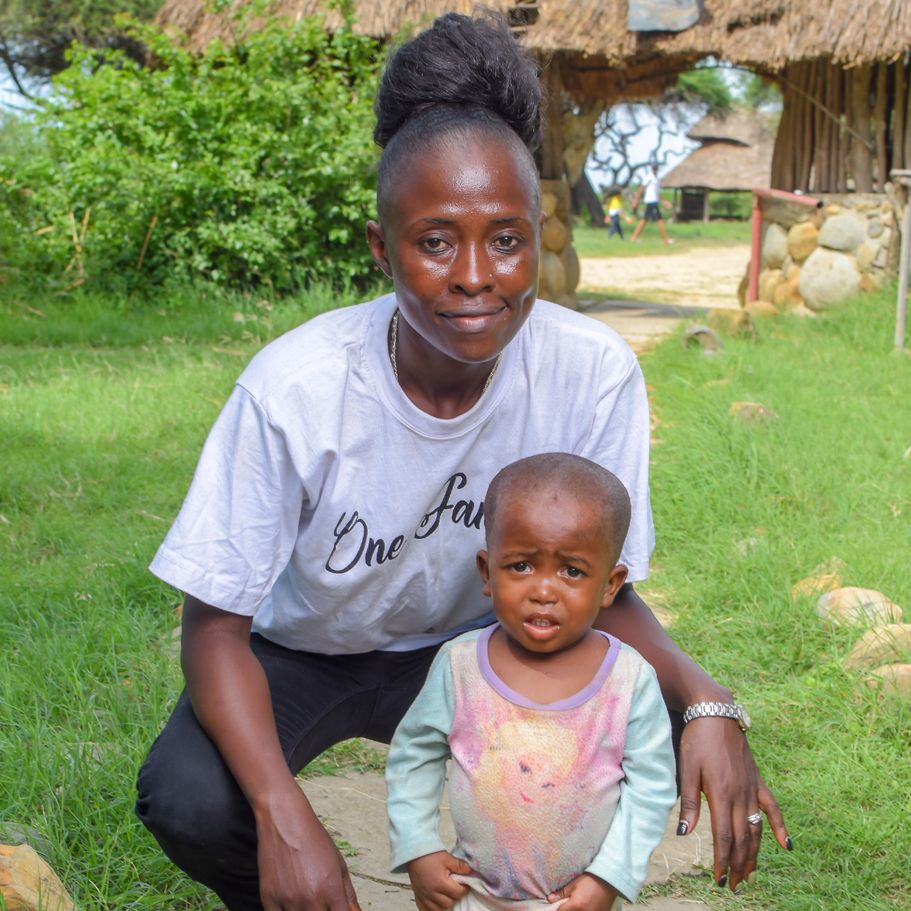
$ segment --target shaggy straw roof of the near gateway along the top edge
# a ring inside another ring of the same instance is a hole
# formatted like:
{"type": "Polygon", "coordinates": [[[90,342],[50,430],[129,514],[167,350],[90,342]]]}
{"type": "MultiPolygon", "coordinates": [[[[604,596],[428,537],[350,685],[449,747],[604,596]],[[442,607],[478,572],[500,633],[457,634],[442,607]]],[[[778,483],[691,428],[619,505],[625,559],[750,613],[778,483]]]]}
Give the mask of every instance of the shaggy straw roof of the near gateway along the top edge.
{"type": "MultiPolygon", "coordinates": [[[[243,0],[235,0],[242,4],[243,0]]],[[[326,0],[276,0],[291,18],[321,13],[326,0]]],[[[471,12],[475,0],[354,0],[360,30],[390,37],[429,23],[448,11],[471,12]]],[[[569,69],[569,87],[593,70],[622,70],[635,82],[637,72],[674,72],[706,56],[764,71],[797,60],[831,58],[856,65],[894,60],[911,49],[911,0],[704,0],[699,22],[683,32],[628,32],[627,0],[485,0],[518,25],[525,41],[541,53],[560,52],[569,69]],[[635,62],[635,70],[630,67],[635,62]]],[[[231,39],[227,19],[205,12],[205,0],[166,0],[158,21],[189,35],[202,47],[215,37],[231,39]]],[[[330,26],[338,21],[330,14],[330,26]]],[[[616,80],[615,80],[616,81],[616,80]]]]}

